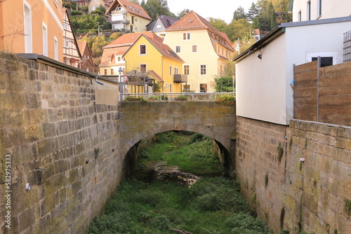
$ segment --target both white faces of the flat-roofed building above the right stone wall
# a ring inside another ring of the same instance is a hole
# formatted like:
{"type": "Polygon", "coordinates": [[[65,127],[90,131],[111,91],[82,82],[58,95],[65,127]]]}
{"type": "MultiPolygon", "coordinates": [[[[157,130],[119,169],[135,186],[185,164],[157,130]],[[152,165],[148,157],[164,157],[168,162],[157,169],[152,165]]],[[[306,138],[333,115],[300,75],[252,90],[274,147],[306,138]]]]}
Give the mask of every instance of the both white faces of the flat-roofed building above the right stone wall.
{"type": "Polygon", "coordinates": [[[237,63],[237,115],[288,125],[293,118],[293,64],[307,53],[338,53],[343,62],[343,34],[350,22],[286,27],[286,32],[237,63]],[[262,60],[258,58],[262,54],[262,60]]]}

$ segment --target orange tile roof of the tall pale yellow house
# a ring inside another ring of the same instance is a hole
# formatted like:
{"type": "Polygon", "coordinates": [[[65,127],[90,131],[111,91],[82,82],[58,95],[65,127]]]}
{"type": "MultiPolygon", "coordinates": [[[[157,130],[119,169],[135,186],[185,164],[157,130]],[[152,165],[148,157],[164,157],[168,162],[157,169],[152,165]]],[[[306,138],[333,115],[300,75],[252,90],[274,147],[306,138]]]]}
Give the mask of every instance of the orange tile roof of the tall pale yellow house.
{"type": "MultiPolygon", "coordinates": [[[[166,32],[168,31],[185,31],[185,30],[194,30],[194,29],[207,29],[213,34],[216,34],[219,38],[223,39],[223,41],[220,41],[220,43],[223,44],[227,49],[229,50],[234,50],[232,48],[232,43],[230,42],[230,39],[227,37],[227,35],[223,32],[219,32],[215,27],[213,27],[210,22],[202,18],[200,15],[195,13],[194,11],[190,11],[186,15],[183,16],[180,20],[178,20],[174,25],[171,25],[166,29],[166,32]]],[[[216,37],[215,35],[215,37],[216,37]]],[[[209,34],[211,41],[213,43],[213,46],[216,45],[216,42],[218,39],[213,39],[213,36],[209,34]]],[[[215,48],[216,50],[216,48],[215,48]]]]}

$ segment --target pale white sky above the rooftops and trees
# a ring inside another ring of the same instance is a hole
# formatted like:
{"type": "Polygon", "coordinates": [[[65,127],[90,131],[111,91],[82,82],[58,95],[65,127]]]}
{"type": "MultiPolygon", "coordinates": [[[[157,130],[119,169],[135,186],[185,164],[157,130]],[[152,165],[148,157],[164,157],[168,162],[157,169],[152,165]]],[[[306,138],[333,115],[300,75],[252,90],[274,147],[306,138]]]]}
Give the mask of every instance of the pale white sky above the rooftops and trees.
{"type": "Polygon", "coordinates": [[[169,11],[176,15],[184,9],[190,9],[203,18],[220,18],[227,24],[232,22],[234,11],[239,6],[247,13],[253,2],[257,0],[167,0],[169,11]]]}

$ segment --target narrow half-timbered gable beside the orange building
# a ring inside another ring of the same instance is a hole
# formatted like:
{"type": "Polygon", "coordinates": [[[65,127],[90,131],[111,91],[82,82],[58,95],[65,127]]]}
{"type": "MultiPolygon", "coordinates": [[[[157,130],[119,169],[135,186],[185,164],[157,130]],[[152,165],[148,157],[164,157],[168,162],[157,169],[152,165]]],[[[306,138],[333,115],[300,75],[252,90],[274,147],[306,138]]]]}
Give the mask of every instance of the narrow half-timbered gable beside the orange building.
{"type": "Polygon", "coordinates": [[[63,62],[73,67],[81,68],[81,53],[79,52],[76,36],[66,8],[63,8],[63,62]]]}

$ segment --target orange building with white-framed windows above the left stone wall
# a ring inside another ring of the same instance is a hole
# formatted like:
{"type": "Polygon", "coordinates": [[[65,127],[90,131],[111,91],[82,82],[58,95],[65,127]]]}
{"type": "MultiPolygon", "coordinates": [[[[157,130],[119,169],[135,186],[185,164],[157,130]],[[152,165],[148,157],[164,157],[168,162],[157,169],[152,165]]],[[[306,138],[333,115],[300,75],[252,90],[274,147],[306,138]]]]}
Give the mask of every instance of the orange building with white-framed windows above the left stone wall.
{"type": "Polygon", "coordinates": [[[63,62],[62,1],[0,1],[0,50],[63,62]]]}

